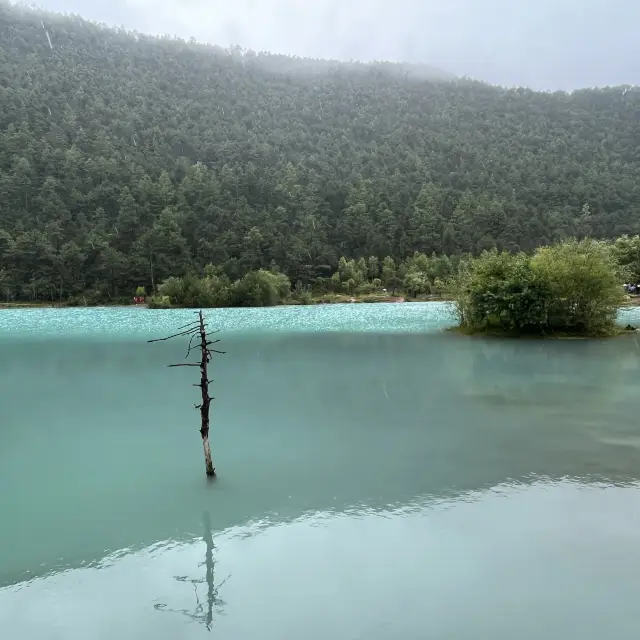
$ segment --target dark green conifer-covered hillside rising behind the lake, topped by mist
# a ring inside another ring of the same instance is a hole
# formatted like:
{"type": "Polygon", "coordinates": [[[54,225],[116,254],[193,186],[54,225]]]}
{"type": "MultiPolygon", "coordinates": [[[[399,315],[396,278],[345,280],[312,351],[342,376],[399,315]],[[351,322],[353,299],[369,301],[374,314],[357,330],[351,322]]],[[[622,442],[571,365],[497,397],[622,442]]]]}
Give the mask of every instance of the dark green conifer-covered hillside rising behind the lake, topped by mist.
{"type": "Polygon", "coordinates": [[[638,89],[319,69],[0,2],[2,297],[640,232],[638,89]]]}

